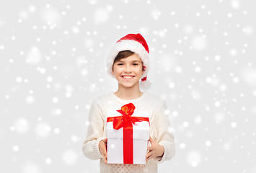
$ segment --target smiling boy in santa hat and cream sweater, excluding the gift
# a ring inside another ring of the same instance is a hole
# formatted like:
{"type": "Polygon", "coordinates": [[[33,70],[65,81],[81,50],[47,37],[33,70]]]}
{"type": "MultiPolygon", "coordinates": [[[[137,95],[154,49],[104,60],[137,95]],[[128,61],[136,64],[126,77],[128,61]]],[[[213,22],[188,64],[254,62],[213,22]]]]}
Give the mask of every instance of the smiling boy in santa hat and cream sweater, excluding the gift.
{"type": "Polygon", "coordinates": [[[157,172],[157,164],[172,159],[175,154],[174,136],[169,124],[164,99],[141,92],[149,71],[149,47],[140,34],[129,34],[115,43],[110,53],[108,69],[118,81],[118,90],[94,100],[89,112],[84,155],[100,159],[100,172],[157,172]],[[149,115],[149,141],[146,164],[107,164],[107,112],[120,110],[131,102],[138,111],[149,115]]]}

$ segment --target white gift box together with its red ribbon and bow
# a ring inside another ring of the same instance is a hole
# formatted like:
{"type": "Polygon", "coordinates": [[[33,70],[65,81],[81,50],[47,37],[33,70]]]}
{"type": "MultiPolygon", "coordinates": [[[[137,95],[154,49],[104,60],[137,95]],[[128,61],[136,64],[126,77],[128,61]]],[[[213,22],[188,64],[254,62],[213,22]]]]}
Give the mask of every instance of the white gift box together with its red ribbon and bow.
{"type": "Polygon", "coordinates": [[[149,141],[148,112],[134,111],[124,105],[107,115],[107,163],[146,164],[149,141]]]}

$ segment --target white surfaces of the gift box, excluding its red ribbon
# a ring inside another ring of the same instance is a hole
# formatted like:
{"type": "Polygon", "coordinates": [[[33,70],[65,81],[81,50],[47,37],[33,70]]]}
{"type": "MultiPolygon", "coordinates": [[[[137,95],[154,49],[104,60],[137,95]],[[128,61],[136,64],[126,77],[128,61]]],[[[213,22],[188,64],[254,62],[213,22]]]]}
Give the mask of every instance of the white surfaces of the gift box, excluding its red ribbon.
{"type": "MultiPolygon", "coordinates": [[[[121,116],[118,111],[109,111],[107,117],[121,116]]],[[[148,112],[135,111],[131,117],[149,117],[148,112]]],[[[133,164],[146,164],[149,141],[149,122],[133,124],[133,164]]],[[[123,164],[123,128],[115,130],[113,122],[107,122],[107,163],[123,164]]]]}

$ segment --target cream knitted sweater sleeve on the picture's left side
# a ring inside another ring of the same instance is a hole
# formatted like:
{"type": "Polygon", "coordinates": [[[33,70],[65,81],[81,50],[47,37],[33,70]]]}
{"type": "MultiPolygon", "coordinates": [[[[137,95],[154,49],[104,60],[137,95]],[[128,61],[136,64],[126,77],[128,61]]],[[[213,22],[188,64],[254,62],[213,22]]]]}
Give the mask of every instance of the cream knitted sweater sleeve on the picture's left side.
{"type": "Polygon", "coordinates": [[[97,160],[102,158],[99,149],[99,143],[104,139],[103,136],[103,118],[102,110],[100,109],[97,100],[92,103],[92,107],[89,111],[89,126],[87,130],[87,138],[82,143],[82,150],[84,156],[89,159],[97,160]]]}

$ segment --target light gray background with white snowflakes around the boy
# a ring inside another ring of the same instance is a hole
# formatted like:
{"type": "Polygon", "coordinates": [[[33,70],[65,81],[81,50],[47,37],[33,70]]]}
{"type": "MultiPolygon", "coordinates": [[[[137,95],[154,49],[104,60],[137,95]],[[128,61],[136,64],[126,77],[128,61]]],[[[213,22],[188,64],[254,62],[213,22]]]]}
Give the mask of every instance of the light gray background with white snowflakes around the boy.
{"type": "Polygon", "coordinates": [[[0,172],[98,172],[81,143],[115,92],[107,54],[140,32],[176,155],[159,172],[256,172],[255,2],[1,1],[0,172]]]}

